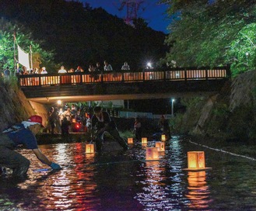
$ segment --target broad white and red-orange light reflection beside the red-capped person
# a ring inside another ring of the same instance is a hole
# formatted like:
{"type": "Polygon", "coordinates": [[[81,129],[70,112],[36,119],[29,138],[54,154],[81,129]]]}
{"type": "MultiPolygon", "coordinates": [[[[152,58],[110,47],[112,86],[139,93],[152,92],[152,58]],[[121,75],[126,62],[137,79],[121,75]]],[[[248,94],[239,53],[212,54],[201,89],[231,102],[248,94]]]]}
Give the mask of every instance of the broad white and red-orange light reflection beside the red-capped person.
{"type": "MultiPolygon", "coordinates": [[[[93,159],[86,159],[83,144],[58,144],[56,147],[51,146],[50,149],[47,148],[49,154],[57,154],[55,161],[72,164],[72,168],[64,168],[58,174],[51,174],[51,177],[40,178],[40,182],[44,182],[45,184],[42,184],[47,187],[44,192],[40,192],[40,197],[49,199],[40,201],[38,210],[41,210],[41,207],[44,207],[44,210],[62,210],[81,204],[88,210],[95,210],[94,203],[88,197],[97,189],[93,178],[95,166],[88,166],[84,171],[85,164],[93,162],[93,159]]],[[[100,203],[100,199],[96,199],[95,203],[100,203]]]]}

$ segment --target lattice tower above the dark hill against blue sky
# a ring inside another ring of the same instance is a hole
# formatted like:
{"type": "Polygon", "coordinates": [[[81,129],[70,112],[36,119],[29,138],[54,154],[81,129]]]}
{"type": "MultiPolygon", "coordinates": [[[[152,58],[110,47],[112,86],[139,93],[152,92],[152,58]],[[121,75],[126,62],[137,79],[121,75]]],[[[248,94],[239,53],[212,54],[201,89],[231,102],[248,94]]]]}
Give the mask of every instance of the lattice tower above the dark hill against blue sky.
{"type": "Polygon", "coordinates": [[[129,25],[132,24],[133,19],[138,18],[139,6],[143,3],[143,0],[123,0],[121,1],[121,7],[119,10],[124,9],[126,7],[126,17],[124,18],[124,22],[129,25]]]}

